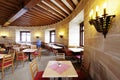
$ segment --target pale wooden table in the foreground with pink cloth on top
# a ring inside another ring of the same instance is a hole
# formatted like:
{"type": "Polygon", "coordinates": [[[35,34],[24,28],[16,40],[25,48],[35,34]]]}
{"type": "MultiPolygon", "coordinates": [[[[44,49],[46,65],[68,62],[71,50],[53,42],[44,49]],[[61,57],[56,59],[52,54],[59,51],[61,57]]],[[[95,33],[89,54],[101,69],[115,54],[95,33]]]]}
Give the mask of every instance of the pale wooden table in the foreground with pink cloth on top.
{"type": "Polygon", "coordinates": [[[43,78],[59,78],[62,77],[78,77],[77,72],[75,68],[73,67],[71,61],[49,61],[47,64],[47,67],[45,68],[45,71],[42,75],[43,78]],[[61,63],[61,66],[58,64],[61,63]],[[58,65],[56,67],[56,64],[58,65]],[[67,66],[67,67],[65,67],[67,66]],[[56,67],[56,69],[55,69],[56,67]],[[66,69],[65,69],[66,68],[66,69]],[[58,69],[61,71],[61,69],[64,69],[64,71],[59,72],[58,69]]]}

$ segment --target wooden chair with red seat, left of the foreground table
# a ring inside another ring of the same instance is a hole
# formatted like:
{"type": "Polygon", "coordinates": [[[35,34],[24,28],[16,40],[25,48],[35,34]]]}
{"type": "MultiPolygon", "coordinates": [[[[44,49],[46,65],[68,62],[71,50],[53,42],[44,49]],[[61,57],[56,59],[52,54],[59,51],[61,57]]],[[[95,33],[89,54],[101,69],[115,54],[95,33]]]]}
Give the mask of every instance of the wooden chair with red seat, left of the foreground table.
{"type": "Polygon", "coordinates": [[[32,74],[32,80],[49,80],[49,78],[42,78],[43,71],[38,71],[38,65],[35,60],[30,62],[30,71],[32,74]]]}

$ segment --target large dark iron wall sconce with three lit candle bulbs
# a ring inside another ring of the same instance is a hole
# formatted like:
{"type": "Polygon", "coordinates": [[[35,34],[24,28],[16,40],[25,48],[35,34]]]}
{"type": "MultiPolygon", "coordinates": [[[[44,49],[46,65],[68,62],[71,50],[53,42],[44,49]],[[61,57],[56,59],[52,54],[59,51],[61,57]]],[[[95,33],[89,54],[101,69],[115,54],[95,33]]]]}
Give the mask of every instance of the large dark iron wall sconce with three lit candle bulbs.
{"type": "Polygon", "coordinates": [[[100,32],[104,35],[104,38],[106,38],[106,34],[108,33],[110,29],[110,24],[112,19],[115,17],[115,15],[108,15],[106,13],[106,3],[104,4],[104,13],[100,17],[98,16],[98,6],[96,7],[96,18],[93,19],[93,10],[90,12],[90,25],[94,25],[97,32],[100,32]]]}

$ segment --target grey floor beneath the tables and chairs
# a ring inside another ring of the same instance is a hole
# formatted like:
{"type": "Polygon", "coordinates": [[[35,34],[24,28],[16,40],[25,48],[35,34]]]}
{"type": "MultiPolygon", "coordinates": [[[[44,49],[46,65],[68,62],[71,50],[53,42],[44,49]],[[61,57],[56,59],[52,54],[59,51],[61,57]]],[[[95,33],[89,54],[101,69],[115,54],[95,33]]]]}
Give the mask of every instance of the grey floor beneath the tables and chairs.
{"type": "MultiPolygon", "coordinates": [[[[55,60],[54,54],[50,53],[43,53],[41,56],[41,60],[36,58],[36,61],[39,66],[39,70],[44,70],[49,60],[55,60]]],[[[74,64],[75,68],[78,69],[79,65],[74,64]]],[[[0,72],[0,80],[1,79],[1,72],[0,72]]],[[[5,71],[5,78],[3,80],[32,80],[31,73],[29,68],[29,61],[25,62],[25,65],[19,64],[18,67],[15,67],[14,73],[12,74],[11,69],[7,69],[5,71]]]]}

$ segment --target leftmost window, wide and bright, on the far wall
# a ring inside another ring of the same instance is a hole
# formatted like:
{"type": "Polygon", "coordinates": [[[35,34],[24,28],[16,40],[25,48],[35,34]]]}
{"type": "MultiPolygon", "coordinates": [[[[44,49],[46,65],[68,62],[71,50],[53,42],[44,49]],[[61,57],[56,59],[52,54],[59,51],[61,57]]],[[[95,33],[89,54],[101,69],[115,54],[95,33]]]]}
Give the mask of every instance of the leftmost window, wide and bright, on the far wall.
{"type": "Polygon", "coordinates": [[[20,31],[20,42],[23,43],[31,42],[30,31],[20,31]]]}

